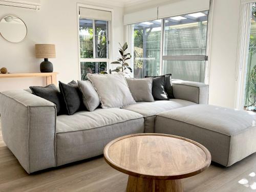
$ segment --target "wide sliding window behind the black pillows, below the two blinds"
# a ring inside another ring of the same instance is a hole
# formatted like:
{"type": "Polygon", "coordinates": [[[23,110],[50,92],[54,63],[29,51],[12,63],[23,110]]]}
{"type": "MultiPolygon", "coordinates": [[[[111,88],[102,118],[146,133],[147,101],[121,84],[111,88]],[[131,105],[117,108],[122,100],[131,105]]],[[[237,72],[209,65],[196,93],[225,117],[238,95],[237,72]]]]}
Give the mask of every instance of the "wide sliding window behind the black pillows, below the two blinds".
{"type": "Polygon", "coordinates": [[[134,24],[134,77],[204,82],[208,11],[134,24]]]}

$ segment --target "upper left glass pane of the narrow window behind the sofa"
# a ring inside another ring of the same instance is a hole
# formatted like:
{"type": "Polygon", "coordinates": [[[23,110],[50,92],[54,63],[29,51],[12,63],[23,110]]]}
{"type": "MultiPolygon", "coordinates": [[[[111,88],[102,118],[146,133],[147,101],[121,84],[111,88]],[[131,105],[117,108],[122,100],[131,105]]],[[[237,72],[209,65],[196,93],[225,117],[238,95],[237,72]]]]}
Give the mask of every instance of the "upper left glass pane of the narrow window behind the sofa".
{"type": "Polygon", "coordinates": [[[80,57],[93,58],[93,20],[79,19],[80,57]]]}

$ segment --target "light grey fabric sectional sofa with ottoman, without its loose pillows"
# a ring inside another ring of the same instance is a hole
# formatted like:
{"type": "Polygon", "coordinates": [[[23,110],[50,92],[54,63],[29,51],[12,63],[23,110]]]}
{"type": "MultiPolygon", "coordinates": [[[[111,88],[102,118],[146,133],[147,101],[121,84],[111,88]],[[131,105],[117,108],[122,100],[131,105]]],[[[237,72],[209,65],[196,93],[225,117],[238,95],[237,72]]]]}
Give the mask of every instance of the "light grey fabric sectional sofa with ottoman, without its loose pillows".
{"type": "Polygon", "coordinates": [[[48,100],[24,90],[5,91],[0,94],[3,139],[29,174],[101,155],[111,140],[136,133],[194,139],[208,148],[212,160],[224,166],[256,152],[255,115],[212,110],[204,83],[175,80],[173,94],[175,99],[137,102],[123,109],[56,116],[56,106],[48,100]],[[220,121],[222,116],[236,122],[220,121]],[[239,147],[249,135],[243,148],[239,147]]]}

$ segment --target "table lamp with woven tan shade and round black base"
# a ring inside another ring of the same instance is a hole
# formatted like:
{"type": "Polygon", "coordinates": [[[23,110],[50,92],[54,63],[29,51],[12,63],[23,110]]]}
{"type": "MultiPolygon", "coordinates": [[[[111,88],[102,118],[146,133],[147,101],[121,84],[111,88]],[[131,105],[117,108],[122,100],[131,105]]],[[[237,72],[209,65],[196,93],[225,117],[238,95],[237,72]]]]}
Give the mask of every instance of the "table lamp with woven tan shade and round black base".
{"type": "Polygon", "coordinates": [[[44,58],[45,60],[40,64],[41,73],[53,72],[53,65],[48,58],[55,58],[55,45],[52,44],[36,44],[35,45],[36,58],[44,58]]]}

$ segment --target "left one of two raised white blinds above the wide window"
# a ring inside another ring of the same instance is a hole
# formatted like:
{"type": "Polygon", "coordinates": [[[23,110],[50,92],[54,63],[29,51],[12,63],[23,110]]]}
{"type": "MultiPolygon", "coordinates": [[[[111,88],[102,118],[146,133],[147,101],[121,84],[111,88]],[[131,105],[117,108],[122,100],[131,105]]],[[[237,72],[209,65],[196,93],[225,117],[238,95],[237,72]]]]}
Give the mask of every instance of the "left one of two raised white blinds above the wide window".
{"type": "Polygon", "coordinates": [[[123,23],[124,25],[130,25],[155,19],[157,19],[157,7],[125,14],[123,17],[123,23]]]}

